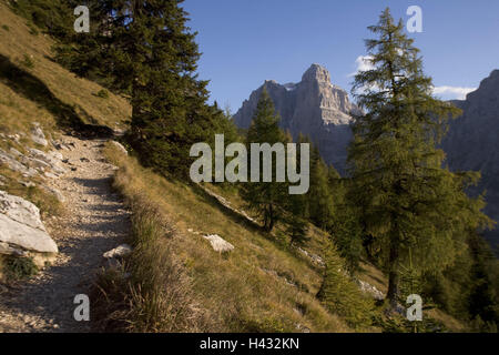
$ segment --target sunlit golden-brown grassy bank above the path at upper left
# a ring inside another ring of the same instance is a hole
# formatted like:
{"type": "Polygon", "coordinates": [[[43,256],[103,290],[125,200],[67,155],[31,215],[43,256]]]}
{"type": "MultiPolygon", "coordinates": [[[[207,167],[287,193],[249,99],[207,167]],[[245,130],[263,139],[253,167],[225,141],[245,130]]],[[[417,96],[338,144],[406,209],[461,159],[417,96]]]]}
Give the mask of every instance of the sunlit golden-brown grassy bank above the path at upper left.
{"type": "MultiPolygon", "coordinates": [[[[0,73],[0,132],[26,131],[33,121],[53,129],[60,119],[53,101],[64,109],[72,109],[85,123],[123,128],[131,115],[126,100],[113,94],[109,99],[96,97],[102,90],[100,85],[77,78],[51,60],[52,45],[49,37],[31,34],[26,20],[0,1],[0,60],[8,60],[27,73],[27,82],[19,85],[13,85],[4,73],[0,73]],[[27,65],[27,58],[32,68],[27,65]],[[54,99],[52,102],[45,100],[50,93],[54,99]]],[[[3,67],[4,70],[10,68],[3,67]]]]}

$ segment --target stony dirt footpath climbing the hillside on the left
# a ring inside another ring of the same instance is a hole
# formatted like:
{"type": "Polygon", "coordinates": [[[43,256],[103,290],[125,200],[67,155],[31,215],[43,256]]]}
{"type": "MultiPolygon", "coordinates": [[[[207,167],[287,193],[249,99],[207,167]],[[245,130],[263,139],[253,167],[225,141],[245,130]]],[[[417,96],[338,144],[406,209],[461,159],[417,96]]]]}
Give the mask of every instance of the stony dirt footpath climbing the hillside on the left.
{"type": "Polygon", "coordinates": [[[88,332],[89,322],[73,318],[77,294],[88,293],[102,254],[129,230],[129,212],[111,189],[114,166],[102,155],[102,140],[64,136],[68,173],[50,184],[64,196],[67,213],[45,221],[59,246],[53,266],[0,296],[0,332],[88,332]],[[71,169],[72,168],[72,169],[71,169]]]}

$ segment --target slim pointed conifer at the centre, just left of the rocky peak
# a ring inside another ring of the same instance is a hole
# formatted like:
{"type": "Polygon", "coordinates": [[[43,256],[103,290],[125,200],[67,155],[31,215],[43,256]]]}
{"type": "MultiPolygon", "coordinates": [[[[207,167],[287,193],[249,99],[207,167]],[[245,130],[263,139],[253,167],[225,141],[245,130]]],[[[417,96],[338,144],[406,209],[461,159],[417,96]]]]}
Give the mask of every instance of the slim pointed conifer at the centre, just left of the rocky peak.
{"type": "MultiPolygon", "coordinates": [[[[274,102],[264,89],[246,136],[248,156],[252,154],[252,143],[268,143],[271,146],[275,143],[283,143],[286,146],[287,138],[279,129],[279,115],[275,112],[274,102]]],[[[243,184],[242,195],[247,202],[248,207],[263,219],[264,229],[271,232],[275,223],[283,217],[284,209],[287,206],[288,184],[276,181],[275,159],[272,160],[272,182],[263,181],[263,164],[265,162],[262,155],[259,159],[259,182],[249,181],[243,184]]]]}

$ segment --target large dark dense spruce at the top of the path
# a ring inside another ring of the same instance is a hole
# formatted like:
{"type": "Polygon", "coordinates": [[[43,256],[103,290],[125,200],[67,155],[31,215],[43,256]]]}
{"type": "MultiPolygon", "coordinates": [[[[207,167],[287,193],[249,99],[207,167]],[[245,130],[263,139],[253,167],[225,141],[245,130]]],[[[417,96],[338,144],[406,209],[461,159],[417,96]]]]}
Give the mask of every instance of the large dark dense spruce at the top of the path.
{"type": "Polygon", "coordinates": [[[130,95],[132,148],[145,165],[174,174],[189,171],[193,143],[213,142],[230,125],[218,108],[206,104],[207,82],[196,74],[196,33],[182,2],[83,1],[91,33],[59,47],[59,59],[78,74],[130,95]]]}

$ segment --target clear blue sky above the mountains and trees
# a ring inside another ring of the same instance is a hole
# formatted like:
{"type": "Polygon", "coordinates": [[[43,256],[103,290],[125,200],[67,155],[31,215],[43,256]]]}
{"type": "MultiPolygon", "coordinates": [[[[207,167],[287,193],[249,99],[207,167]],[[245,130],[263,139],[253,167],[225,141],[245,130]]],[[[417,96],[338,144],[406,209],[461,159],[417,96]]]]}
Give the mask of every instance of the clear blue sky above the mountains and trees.
{"type": "Polygon", "coordinates": [[[406,22],[409,6],[422,10],[422,32],[409,33],[425,71],[442,99],[462,98],[499,69],[498,0],[185,0],[190,27],[203,52],[200,78],[212,101],[235,112],[266,79],[298,82],[312,64],[350,90],[365,55],[366,29],[390,7],[406,22]]]}

